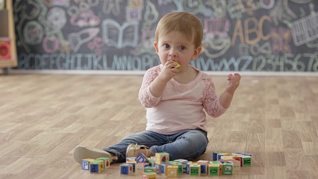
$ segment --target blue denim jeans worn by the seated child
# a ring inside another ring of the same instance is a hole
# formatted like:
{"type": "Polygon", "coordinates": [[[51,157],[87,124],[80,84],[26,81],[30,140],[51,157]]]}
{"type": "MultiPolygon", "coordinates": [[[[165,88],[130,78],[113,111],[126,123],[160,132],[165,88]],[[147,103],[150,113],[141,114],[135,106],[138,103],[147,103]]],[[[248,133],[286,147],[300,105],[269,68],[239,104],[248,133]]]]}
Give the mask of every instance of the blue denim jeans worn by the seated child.
{"type": "Polygon", "coordinates": [[[153,131],[143,131],[127,136],[112,147],[103,148],[118,157],[112,163],[126,162],[126,150],[130,144],[145,145],[155,155],[159,152],[169,154],[170,161],[197,158],[204,154],[209,143],[207,133],[200,129],[186,130],[173,135],[163,135],[153,131]]]}

